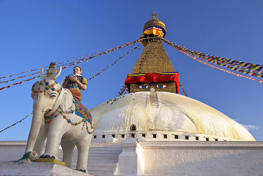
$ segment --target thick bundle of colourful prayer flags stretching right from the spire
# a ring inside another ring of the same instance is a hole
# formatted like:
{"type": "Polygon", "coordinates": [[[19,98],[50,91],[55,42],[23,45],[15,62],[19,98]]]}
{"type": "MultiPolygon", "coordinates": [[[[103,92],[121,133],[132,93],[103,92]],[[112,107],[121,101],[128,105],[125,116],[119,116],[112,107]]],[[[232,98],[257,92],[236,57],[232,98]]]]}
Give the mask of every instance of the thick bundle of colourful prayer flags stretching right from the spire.
{"type": "MultiPolygon", "coordinates": [[[[257,76],[257,77],[263,78],[263,75],[261,75],[261,73],[263,72],[263,65],[254,64],[254,63],[247,63],[247,62],[241,62],[241,61],[236,61],[236,60],[230,60],[230,59],[223,58],[223,57],[217,57],[217,56],[204,54],[204,53],[201,53],[201,52],[190,50],[190,49],[182,47],[180,45],[176,45],[175,43],[173,43],[173,42],[171,42],[169,40],[166,40],[164,38],[161,38],[161,39],[165,43],[167,43],[168,45],[175,47],[180,52],[188,54],[189,56],[190,55],[195,56],[194,58],[200,57],[202,59],[206,59],[206,62],[212,62],[212,63],[215,63],[215,64],[217,64],[219,66],[223,66],[223,67],[229,68],[229,69],[234,70],[234,71],[238,71],[238,72],[241,72],[241,73],[244,73],[244,74],[249,74],[249,75],[252,75],[252,76],[257,76]]],[[[242,76],[242,77],[246,77],[246,76],[242,76]]]]}

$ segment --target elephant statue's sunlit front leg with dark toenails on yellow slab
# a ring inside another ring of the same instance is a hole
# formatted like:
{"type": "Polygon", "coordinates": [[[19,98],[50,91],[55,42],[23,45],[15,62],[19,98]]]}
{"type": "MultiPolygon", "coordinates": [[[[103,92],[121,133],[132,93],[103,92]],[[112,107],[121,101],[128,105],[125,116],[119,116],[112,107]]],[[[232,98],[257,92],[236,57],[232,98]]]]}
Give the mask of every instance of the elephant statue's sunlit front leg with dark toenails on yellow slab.
{"type": "Polygon", "coordinates": [[[58,128],[51,127],[52,126],[49,126],[47,134],[47,144],[44,152],[44,158],[58,159],[59,144],[64,133],[62,133],[62,130],[59,130],[58,128]]]}

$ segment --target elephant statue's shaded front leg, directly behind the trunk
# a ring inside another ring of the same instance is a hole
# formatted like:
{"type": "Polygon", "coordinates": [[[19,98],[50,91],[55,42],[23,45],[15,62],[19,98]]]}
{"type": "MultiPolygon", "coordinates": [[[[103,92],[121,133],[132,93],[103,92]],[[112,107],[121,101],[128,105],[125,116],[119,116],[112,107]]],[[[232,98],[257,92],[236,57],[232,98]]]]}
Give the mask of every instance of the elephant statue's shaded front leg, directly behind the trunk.
{"type": "Polygon", "coordinates": [[[43,152],[44,143],[47,138],[47,134],[48,134],[48,130],[44,126],[41,126],[33,149],[33,151],[37,152],[38,157],[40,157],[43,152]]]}

